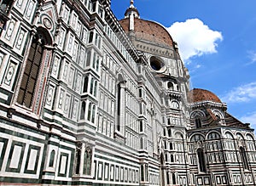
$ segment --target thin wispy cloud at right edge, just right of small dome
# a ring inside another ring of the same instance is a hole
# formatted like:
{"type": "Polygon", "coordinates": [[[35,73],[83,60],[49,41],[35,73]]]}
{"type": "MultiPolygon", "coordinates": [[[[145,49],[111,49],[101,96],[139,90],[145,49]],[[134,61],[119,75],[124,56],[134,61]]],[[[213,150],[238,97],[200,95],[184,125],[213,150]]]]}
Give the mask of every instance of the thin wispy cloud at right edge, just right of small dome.
{"type": "Polygon", "coordinates": [[[256,82],[233,88],[222,100],[227,103],[248,102],[256,99],[256,82]]]}

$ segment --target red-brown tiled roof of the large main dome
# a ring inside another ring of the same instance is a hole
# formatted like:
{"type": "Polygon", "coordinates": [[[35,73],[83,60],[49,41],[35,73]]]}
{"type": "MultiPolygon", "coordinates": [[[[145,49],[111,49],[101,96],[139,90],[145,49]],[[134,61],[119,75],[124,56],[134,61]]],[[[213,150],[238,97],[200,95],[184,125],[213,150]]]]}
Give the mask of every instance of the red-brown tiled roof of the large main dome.
{"type": "MultiPolygon", "coordinates": [[[[125,32],[129,32],[129,18],[119,20],[125,32]]],[[[137,40],[147,41],[164,47],[172,47],[172,37],[166,28],[154,21],[134,19],[134,33],[137,40]]]]}

